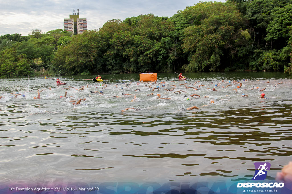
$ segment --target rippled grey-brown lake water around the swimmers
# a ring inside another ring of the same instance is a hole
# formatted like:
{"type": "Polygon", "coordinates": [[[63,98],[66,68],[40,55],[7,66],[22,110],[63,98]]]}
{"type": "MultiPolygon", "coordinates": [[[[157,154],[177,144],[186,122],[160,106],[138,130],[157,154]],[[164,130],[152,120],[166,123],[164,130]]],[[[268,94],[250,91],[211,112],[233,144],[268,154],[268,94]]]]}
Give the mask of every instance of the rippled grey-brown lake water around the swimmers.
{"type": "MultiPolygon", "coordinates": [[[[260,161],[271,163],[267,179],[273,180],[291,161],[292,83],[287,75],[185,74],[187,87],[205,85],[198,90],[179,86],[184,81],[171,82],[176,76],[158,74],[157,84],[152,85],[161,87],[158,83],[166,81],[165,88],[176,86],[173,91],[152,91],[145,82],[108,80],[102,82],[104,88],[91,80],[77,80],[93,76],[64,76],[67,85],[62,86],[43,77],[0,79],[4,96],[0,99],[0,181],[247,180],[253,177],[253,163],[260,161]],[[231,86],[225,88],[229,83],[222,79],[231,81],[231,86]],[[242,88],[233,80],[242,82],[242,88]],[[192,86],[195,81],[201,82],[192,86]],[[262,92],[251,90],[253,86],[266,87],[267,99],[260,99],[262,92]],[[214,87],[217,91],[207,89],[214,87]],[[38,89],[43,90],[41,99],[34,99],[38,89]],[[185,92],[173,93],[179,90],[185,92]],[[12,92],[25,96],[15,98],[12,92]],[[72,97],[60,98],[65,92],[72,97]],[[242,93],[249,96],[241,97],[242,93]],[[157,94],[170,99],[157,99],[157,94]],[[133,95],[137,99],[132,102],[133,95]],[[69,102],[78,98],[86,100],[79,105],[69,102]],[[185,110],[191,106],[199,109],[185,110]],[[130,107],[138,110],[121,112],[130,107]]],[[[102,77],[138,80],[139,74],[102,77]]]]}

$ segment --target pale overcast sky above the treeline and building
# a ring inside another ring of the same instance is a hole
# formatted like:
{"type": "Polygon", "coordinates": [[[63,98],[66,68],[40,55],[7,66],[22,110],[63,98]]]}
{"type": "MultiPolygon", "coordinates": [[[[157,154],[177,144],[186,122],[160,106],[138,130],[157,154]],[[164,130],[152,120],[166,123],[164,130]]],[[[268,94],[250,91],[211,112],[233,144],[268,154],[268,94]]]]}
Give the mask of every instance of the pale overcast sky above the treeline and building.
{"type": "MultiPolygon", "coordinates": [[[[223,0],[221,0],[223,1],[223,0]]],[[[193,6],[199,0],[0,0],[0,35],[29,35],[32,29],[48,32],[64,29],[64,18],[79,8],[79,17],[87,18],[88,30],[99,29],[110,19],[153,13],[173,16],[177,10],[193,6]]],[[[225,2],[225,1],[223,1],[225,2]]]]}

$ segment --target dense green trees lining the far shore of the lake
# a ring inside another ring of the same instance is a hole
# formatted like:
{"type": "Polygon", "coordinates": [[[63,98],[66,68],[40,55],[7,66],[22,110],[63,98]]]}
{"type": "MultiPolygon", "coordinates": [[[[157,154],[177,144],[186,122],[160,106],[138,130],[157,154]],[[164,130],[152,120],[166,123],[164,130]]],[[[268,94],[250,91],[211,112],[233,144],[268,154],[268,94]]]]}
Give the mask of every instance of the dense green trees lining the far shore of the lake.
{"type": "Polygon", "coordinates": [[[292,73],[292,0],[200,2],[172,17],[112,19],[74,35],[56,29],[0,37],[1,77],[56,74],[284,71],[292,73]],[[5,71],[5,72],[4,72],[5,71]],[[13,72],[14,71],[14,72],[13,72]]]}

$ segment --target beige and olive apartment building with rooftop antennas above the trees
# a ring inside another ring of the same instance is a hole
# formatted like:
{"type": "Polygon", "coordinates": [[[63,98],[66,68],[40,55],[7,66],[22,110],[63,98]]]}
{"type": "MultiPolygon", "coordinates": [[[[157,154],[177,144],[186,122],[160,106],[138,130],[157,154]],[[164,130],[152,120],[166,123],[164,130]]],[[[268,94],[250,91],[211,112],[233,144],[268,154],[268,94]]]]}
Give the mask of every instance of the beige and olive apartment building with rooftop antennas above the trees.
{"type": "Polygon", "coordinates": [[[73,9],[73,14],[64,19],[64,30],[71,31],[74,35],[82,34],[87,30],[86,18],[79,18],[79,9],[77,13],[73,9]]]}

